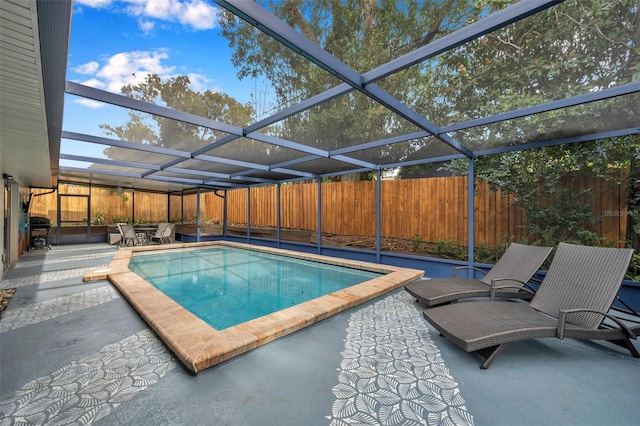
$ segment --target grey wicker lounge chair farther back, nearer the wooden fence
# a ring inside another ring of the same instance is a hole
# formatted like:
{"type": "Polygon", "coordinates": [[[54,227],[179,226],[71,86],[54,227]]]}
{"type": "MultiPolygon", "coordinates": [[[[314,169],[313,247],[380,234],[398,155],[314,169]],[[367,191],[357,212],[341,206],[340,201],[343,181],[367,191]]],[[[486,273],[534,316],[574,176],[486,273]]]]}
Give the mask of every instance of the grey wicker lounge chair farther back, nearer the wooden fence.
{"type": "Polygon", "coordinates": [[[528,282],[551,250],[551,247],[511,243],[493,268],[480,279],[457,278],[458,271],[465,268],[485,274],[475,267],[459,266],[453,270],[451,278],[417,280],[405,285],[404,289],[428,307],[469,297],[489,297],[491,287],[498,284],[509,286],[496,292],[496,297],[531,300],[534,290],[528,282]]]}

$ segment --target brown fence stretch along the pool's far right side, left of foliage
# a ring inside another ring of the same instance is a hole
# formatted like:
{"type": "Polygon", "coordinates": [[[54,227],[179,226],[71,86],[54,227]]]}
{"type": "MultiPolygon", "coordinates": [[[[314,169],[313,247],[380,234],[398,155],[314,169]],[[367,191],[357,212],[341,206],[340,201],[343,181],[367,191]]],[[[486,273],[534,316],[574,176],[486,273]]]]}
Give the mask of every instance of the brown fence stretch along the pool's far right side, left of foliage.
{"type": "MultiPolygon", "coordinates": [[[[524,230],[522,209],[487,184],[475,197],[475,241],[496,244],[504,238],[520,239],[524,230]]],[[[281,226],[317,232],[318,185],[281,187],[281,226]]],[[[467,244],[468,197],[466,177],[383,181],[381,185],[383,237],[467,244]]],[[[322,184],[322,232],[337,235],[376,235],[376,182],[322,184]]],[[[211,211],[215,217],[220,214],[211,211]]],[[[247,192],[229,196],[228,220],[246,223],[247,192]]],[[[276,188],[251,189],[251,225],[276,225],[276,188]]]]}

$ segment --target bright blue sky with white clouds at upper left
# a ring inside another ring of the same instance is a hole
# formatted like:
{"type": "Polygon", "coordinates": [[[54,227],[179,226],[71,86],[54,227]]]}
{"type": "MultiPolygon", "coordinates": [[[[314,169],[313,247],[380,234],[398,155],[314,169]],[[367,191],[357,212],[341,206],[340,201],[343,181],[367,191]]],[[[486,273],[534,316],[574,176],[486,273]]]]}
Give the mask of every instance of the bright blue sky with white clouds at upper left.
{"type": "MultiPolygon", "coordinates": [[[[149,74],[186,75],[194,90],[223,91],[247,103],[265,83],[236,77],[228,42],[219,36],[219,13],[207,0],[75,0],[67,80],[120,93],[149,74]]],[[[127,120],[122,108],[71,95],[65,99],[64,130],[105,136],[99,124],[127,120]]],[[[104,147],[90,144],[63,140],[61,149],[104,157],[104,147]]]]}

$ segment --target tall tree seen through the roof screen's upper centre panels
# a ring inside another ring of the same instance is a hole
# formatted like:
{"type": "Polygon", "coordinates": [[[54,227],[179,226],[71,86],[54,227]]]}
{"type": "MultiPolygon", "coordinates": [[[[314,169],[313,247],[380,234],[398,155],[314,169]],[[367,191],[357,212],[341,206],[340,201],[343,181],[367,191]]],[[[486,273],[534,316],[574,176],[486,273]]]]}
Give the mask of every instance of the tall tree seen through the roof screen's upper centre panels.
{"type": "MultiPolygon", "coordinates": [[[[506,2],[285,0],[265,4],[309,40],[354,70],[366,72],[501,9],[506,2]]],[[[220,15],[220,25],[222,35],[234,51],[233,63],[238,77],[264,75],[272,82],[281,108],[341,83],[229,12],[220,15]]],[[[432,75],[415,67],[401,76],[388,77],[381,84],[394,94],[433,99],[437,93],[430,84],[431,79],[432,75]]],[[[332,150],[417,130],[365,95],[351,92],[264,131],[307,146],[332,150]]],[[[362,153],[362,156],[373,162],[380,158],[400,161],[430,145],[432,141],[412,141],[362,153]]]]}

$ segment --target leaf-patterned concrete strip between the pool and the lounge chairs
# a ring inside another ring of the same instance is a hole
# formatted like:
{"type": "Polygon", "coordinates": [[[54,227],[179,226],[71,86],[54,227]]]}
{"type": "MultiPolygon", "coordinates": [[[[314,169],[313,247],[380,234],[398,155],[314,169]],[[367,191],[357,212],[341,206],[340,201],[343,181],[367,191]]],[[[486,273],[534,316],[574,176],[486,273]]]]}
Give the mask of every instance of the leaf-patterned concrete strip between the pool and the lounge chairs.
{"type": "Polygon", "coordinates": [[[473,425],[408,293],[353,313],[342,356],[332,426],[473,425]]]}

